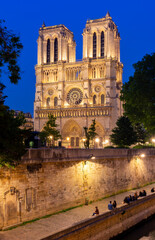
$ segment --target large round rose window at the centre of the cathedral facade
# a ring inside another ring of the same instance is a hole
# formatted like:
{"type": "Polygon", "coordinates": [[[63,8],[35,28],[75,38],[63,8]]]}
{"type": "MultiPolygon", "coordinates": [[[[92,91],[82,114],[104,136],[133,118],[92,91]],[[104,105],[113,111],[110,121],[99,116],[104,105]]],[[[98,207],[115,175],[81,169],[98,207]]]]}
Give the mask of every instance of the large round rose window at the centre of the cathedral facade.
{"type": "Polygon", "coordinates": [[[83,93],[79,88],[72,88],[67,94],[67,102],[70,105],[78,105],[82,102],[83,93]]]}

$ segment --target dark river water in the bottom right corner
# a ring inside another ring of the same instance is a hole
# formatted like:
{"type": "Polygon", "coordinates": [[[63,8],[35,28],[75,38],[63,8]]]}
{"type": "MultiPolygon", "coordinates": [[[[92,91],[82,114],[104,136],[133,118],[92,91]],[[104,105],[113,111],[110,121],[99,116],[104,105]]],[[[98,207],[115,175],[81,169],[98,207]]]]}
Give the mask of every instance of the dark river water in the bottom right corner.
{"type": "Polygon", "coordinates": [[[155,240],[155,215],[147,222],[111,240],[155,240]]]}

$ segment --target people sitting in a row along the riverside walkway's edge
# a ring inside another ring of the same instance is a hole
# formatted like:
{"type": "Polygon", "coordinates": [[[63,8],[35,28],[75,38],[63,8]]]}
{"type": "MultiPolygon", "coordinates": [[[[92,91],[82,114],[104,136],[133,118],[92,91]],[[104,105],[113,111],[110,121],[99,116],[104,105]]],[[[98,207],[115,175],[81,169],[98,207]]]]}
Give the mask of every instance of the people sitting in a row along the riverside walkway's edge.
{"type": "MultiPolygon", "coordinates": [[[[155,188],[154,188],[154,187],[151,189],[151,192],[155,192],[155,188]]],[[[126,197],[124,198],[123,203],[129,204],[130,202],[137,200],[139,197],[145,197],[146,195],[147,195],[147,193],[146,193],[145,190],[140,191],[139,194],[137,194],[137,192],[135,192],[133,196],[131,196],[131,195],[126,196],[126,197]]],[[[112,201],[109,202],[109,204],[108,204],[108,210],[110,210],[110,211],[111,211],[111,210],[115,210],[116,207],[117,207],[117,203],[116,203],[115,200],[113,201],[113,203],[112,203],[112,201]]],[[[98,207],[95,207],[95,211],[94,211],[94,213],[93,213],[92,216],[95,216],[95,215],[96,215],[96,216],[99,215],[99,209],[98,209],[98,207]]]]}

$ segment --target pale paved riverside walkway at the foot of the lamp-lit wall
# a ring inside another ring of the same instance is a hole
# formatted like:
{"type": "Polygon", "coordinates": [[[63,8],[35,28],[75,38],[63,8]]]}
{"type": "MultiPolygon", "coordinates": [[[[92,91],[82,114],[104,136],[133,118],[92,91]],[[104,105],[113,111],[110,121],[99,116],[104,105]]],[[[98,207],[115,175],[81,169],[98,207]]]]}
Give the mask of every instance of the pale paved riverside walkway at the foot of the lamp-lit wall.
{"type": "Polygon", "coordinates": [[[48,218],[40,219],[32,223],[27,223],[23,226],[18,226],[12,230],[1,231],[0,240],[41,240],[54,233],[65,230],[77,223],[85,220],[89,220],[92,217],[92,213],[95,210],[95,206],[98,206],[100,214],[107,212],[107,205],[109,201],[116,200],[117,207],[124,205],[122,202],[125,196],[133,195],[136,191],[145,189],[147,195],[151,194],[151,188],[155,187],[155,184],[145,186],[136,190],[124,192],[102,201],[97,201],[89,205],[84,205],[75,209],[71,209],[67,212],[59,213],[48,218]]]}

